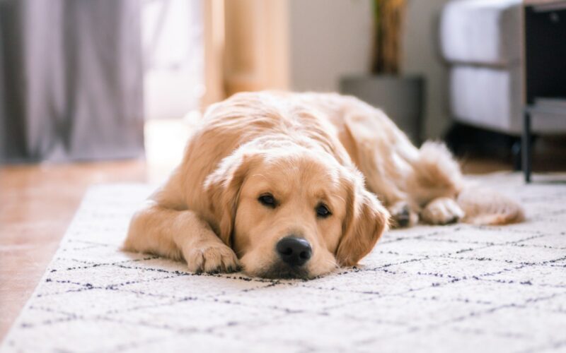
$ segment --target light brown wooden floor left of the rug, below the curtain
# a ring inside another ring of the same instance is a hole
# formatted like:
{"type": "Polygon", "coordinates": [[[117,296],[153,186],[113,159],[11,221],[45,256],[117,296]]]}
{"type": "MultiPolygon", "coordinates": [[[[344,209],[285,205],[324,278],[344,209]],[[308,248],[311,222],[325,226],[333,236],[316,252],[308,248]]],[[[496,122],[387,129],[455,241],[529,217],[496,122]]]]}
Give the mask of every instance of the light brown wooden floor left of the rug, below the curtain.
{"type": "Polygon", "coordinates": [[[145,181],[145,175],[142,161],[0,170],[0,338],[40,280],[88,185],[145,181]]]}

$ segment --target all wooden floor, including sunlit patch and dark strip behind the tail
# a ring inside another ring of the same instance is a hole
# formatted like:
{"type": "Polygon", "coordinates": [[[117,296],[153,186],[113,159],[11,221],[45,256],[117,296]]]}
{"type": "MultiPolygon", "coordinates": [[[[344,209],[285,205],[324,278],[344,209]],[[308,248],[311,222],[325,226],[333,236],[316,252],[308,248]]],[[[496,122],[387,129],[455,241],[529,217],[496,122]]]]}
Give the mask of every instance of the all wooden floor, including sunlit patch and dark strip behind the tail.
{"type": "MultiPolygon", "coordinates": [[[[91,184],[156,182],[175,167],[190,126],[146,126],[146,160],[34,164],[0,169],[0,340],[30,297],[91,184]]],[[[468,173],[509,170],[489,160],[465,160],[468,173]]]]}

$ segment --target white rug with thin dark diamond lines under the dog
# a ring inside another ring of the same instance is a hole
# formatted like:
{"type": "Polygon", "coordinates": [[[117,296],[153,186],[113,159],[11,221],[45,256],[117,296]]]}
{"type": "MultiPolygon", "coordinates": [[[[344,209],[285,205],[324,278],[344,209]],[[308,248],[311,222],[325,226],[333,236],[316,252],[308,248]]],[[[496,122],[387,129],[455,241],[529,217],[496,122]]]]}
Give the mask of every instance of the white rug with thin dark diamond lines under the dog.
{"type": "Polygon", "coordinates": [[[151,188],[94,186],[0,350],[566,351],[566,184],[478,180],[524,203],[527,222],[391,231],[359,268],[308,282],[122,253],[151,188]]]}

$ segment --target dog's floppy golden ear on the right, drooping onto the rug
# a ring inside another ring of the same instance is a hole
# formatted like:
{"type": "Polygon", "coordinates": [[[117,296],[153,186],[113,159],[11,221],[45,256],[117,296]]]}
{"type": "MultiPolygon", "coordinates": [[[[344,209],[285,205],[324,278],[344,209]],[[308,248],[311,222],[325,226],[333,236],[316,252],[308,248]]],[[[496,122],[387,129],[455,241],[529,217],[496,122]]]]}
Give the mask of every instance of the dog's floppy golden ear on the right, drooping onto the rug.
{"type": "Polygon", "coordinates": [[[389,213],[373,193],[359,182],[345,182],[348,196],[342,238],[336,250],[341,266],[353,266],[374,249],[381,234],[388,229],[389,213]]]}

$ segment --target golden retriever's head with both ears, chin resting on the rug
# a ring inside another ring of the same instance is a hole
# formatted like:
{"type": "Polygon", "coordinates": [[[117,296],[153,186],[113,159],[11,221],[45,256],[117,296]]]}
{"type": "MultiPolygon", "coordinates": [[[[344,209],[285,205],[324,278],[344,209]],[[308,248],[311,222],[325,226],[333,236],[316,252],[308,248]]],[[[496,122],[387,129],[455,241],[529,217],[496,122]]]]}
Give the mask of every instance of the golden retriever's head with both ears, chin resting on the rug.
{"type": "Polygon", "coordinates": [[[355,265],[388,224],[356,169],[296,145],[239,148],[204,187],[219,237],[259,277],[312,278],[355,265]]]}

